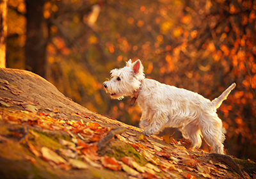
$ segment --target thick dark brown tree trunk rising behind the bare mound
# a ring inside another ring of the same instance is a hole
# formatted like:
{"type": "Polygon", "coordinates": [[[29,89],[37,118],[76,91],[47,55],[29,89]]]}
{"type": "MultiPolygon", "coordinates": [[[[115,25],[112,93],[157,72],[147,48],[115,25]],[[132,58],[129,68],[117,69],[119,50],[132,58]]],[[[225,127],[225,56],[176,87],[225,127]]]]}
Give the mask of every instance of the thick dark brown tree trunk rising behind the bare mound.
{"type": "Polygon", "coordinates": [[[26,70],[45,77],[48,29],[44,19],[44,0],[26,0],[26,70]]]}

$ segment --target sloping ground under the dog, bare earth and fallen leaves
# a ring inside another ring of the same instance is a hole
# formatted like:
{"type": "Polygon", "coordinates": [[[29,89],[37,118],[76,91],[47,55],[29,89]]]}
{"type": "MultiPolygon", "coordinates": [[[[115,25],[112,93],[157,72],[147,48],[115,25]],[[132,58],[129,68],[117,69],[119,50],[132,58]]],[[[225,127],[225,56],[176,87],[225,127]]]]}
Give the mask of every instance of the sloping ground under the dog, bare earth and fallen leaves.
{"type": "Polygon", "coordinates": [[[249,159],[188,145],[170,135],[145,137],[38,75],[0,68],[1,178],[256,178],[249,159]]]}

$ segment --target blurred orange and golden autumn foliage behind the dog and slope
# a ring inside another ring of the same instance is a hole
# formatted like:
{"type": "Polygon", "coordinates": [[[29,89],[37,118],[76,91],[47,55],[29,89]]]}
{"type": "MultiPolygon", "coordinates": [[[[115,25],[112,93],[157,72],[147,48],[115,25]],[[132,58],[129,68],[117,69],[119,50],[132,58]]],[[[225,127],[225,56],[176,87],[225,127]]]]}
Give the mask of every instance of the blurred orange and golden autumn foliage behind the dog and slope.
{"type": "MultiPolygon", "coordinates": [[[[6,65],[31,70],[24,50],[26,31],[33,31],[26,29],[27,5],[8,1],[6,65]]],[[[109,71],[129,58],[141,59],[146,77],[211,100],[236,82],[218,110],[225,148],[256,158],[255,1],[51,0],[41,13],[44,77],[72,100],[137,125],[140,109],[102,89],[109,71]]]]}

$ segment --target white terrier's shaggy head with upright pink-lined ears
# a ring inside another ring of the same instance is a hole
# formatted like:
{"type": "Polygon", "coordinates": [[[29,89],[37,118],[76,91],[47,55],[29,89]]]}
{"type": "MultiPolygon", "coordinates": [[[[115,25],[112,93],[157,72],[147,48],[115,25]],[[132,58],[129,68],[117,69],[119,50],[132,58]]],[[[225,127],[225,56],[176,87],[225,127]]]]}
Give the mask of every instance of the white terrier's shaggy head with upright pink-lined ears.
{"type": "Polygon", "coordinates": [[[140,59],[134,63],[130,59],[124,68],[111,70],[110,74],[111,79],[104,82],[104,87],[111,94],[111,98],[118,100],[122,100],[124,96],[132,97],[145,78],[140,59]]]}

